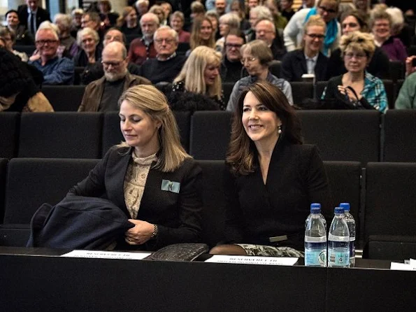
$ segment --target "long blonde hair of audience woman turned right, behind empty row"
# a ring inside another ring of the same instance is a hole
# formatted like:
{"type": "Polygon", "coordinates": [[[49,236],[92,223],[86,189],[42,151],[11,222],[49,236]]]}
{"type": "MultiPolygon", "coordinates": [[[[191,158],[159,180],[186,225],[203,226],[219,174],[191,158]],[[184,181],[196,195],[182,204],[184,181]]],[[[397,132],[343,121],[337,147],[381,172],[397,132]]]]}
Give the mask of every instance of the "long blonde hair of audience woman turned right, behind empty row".
{"type": "Polygon", "coordinates": [[[173,80],[174,83],[185,80],[185,90],[199,94],[208,94],[209,97],[221,99],[221,77],[215,78],[213,85],[206,86],[203,73],[206,66],[220,66],[221,53],[213,48],[201,45],[191,52],[182,67],[179,75],[173,80]]]}

